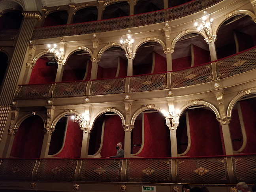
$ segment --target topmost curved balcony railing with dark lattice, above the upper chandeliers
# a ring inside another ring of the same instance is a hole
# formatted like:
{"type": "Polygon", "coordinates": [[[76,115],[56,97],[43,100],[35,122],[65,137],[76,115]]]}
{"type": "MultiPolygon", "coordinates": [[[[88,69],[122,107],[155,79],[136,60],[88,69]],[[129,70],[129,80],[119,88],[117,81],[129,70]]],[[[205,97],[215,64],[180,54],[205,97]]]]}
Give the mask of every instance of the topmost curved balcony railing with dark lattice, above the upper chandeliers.
{"type": "Polygon", "coordinates": [[[223,0],[194,0],[174,8],[79,24],[35,28],[32,39],[82,35],[126,29],[179,19],[209,8],[223,0]]]}

